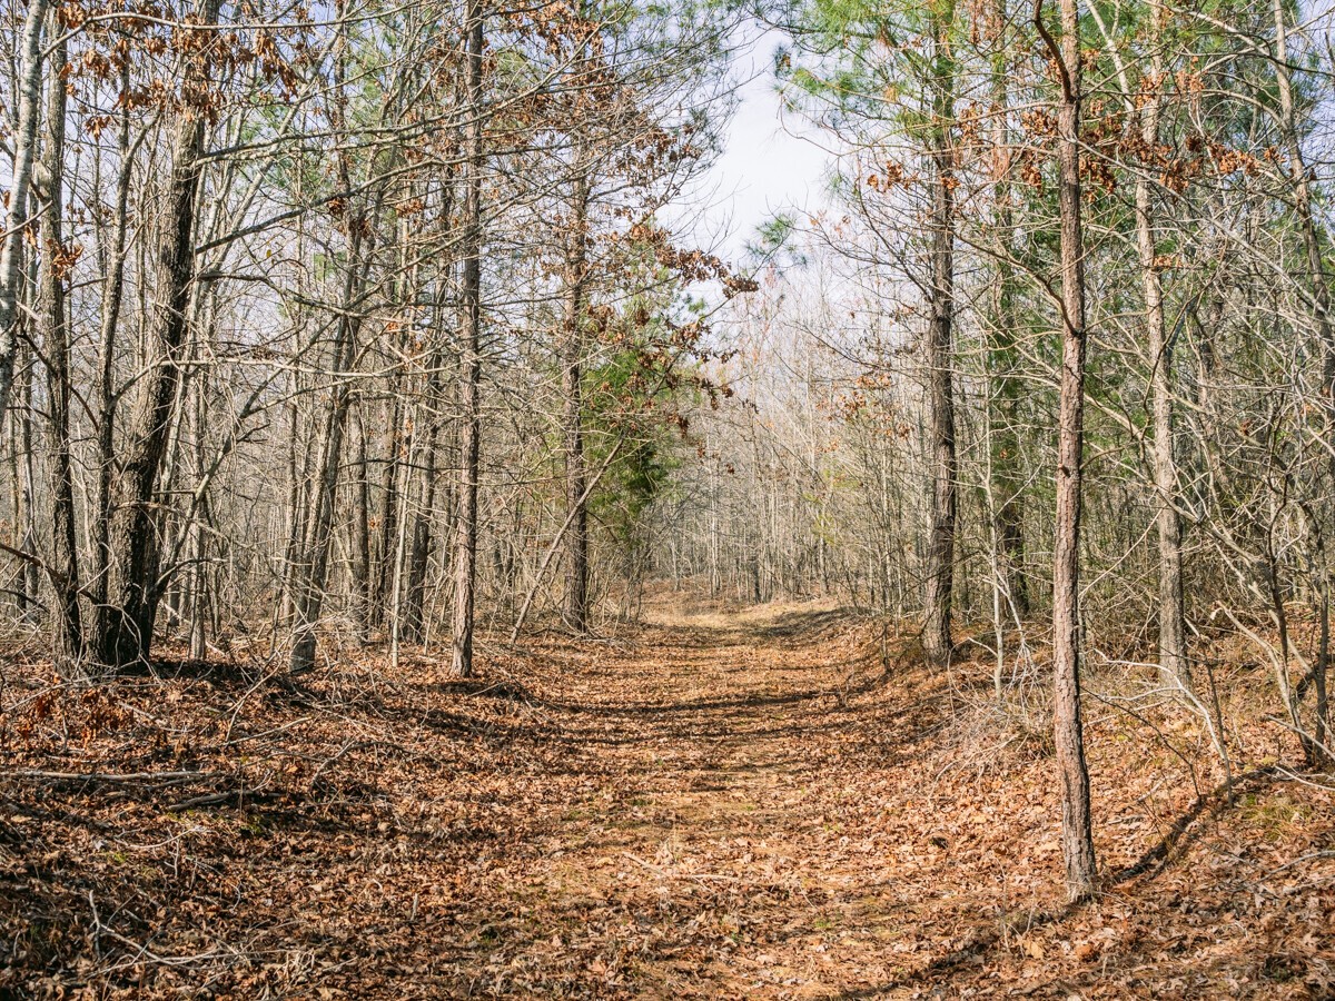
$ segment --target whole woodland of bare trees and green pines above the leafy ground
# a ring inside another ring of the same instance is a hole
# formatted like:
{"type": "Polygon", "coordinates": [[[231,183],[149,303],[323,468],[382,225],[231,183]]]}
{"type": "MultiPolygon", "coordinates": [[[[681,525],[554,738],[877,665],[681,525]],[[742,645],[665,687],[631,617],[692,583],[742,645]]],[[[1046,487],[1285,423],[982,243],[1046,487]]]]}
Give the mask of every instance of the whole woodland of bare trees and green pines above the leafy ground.
{"type": "Polygon", "coordinates": [[[1314,790],[1328,860],[1332,17],[4,4],[17,799],[156,789],[105,741],[182,671],[449,685],[663,594],[820,599],[964,671],[951,753],[1055,755],[1072,898],[1089,678],[1187,727],[1197,806],[1197,763],[1314,790]],[[757,21],[828,196],[725,262],[692,218],[757,21]]]}

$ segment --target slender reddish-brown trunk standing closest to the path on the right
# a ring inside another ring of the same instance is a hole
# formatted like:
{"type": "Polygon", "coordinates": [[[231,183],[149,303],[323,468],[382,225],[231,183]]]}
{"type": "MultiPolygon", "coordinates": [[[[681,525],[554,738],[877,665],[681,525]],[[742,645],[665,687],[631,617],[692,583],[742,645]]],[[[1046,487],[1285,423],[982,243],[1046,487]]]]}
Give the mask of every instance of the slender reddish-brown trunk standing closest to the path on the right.
{"type": "Polygon", "coordinates": [[[1053,733],[1061,781],[1061,854],[1067,893],[1095,892],[1096,862],[1089,809],[1089,770],[1080,717],[1080,484],[1084,451],[1085,296],[1084,234],[1080,220],[1080,13],[1061,0],[1061,48],[1035,20],[1053,49],[1061,76],[1057,115],[1059,204],[1061,214],[1061,388],[1057,415],[1057,517],[1052,567],[1053,733]]]}

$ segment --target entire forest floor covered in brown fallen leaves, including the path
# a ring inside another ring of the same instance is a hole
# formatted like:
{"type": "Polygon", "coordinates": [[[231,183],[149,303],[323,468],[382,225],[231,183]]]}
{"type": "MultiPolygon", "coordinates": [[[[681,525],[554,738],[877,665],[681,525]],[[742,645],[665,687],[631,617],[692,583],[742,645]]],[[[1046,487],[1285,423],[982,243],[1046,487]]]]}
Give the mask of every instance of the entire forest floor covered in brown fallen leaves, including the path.
{"type": "Polygon", "coordinates": [[[1043,730],[908,650],[661,599],[466,683],[15,665],[0,997],[1335,996],[1335,797],[1260,710],[1230,802],[1189,714],[1095,679],[1105,882],[1068,908],[1043,730]]]}

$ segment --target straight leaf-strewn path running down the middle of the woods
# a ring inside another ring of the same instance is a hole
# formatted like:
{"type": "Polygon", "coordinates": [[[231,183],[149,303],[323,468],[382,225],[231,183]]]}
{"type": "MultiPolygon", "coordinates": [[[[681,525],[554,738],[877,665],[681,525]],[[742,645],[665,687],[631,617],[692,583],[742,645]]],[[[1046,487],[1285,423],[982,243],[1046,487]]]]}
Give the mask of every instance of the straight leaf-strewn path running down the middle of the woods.
{"type": "Polygon", "coordinates": [[[878,877],[866,785],[840,775],[876,746],[909,753],[924,719],[868,739],[857,702],[882,669],[865,630],[810,610],[674,617],[569,671],[573,697],[543,709],[578,794],[494,894],[541,916],[541,936],[495,932],[513,989],[550,988],[518,970],[551,960],[583,989],[593,974],[658,997],[828,997],[892,976],[916,890],[878,877]]]}

